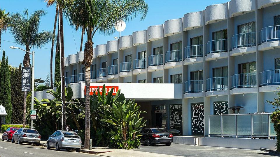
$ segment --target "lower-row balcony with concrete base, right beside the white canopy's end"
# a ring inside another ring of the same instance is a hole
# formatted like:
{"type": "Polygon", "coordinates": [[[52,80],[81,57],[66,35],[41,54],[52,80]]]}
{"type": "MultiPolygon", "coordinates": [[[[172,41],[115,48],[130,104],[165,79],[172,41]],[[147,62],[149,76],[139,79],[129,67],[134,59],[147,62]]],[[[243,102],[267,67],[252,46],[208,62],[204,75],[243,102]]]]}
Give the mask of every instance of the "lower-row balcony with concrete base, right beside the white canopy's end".
{"type": "Polygon", "coordinates": [[[203,97],[203,80],[186,81],[184,98],[203,97]]]}

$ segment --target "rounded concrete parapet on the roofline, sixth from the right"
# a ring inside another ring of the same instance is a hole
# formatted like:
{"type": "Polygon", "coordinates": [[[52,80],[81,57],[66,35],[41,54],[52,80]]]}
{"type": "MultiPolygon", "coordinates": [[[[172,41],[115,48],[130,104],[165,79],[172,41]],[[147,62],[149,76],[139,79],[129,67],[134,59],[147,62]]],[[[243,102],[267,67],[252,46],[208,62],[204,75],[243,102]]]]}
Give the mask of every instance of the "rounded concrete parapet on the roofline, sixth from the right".
{"type": "Polygon", "coordinates": [[[147,29],[148,42],[160,38],[163,38],[163,24],[148,27],[147,29]]]}

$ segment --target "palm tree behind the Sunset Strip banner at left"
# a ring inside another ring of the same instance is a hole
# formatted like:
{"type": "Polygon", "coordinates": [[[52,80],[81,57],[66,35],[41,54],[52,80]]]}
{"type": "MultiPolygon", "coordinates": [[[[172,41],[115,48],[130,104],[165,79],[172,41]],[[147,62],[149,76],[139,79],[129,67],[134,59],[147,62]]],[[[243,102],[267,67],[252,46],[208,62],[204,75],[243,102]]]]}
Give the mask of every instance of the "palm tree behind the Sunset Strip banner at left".
{"type": "MultiPolygon", "coordinates": [[[[20,13],[11,15],[8,28],[10,29],[15,42],[25,46],[26,51],[30,51],[31,48],[41,49],[52,40],[53,33],[51,31],[38,32],[41,17],[44,15],[46,15],[44,10],[37,10],[29,16],[27,9],[23,11],[23,15],[20,13]]],[[[30,66],[30,57],[27,52],[24,55],[23,66],[30,66]]],[[[25,126],[26,95],[27,92],[24,92],[23,127],[25,126]]]]}

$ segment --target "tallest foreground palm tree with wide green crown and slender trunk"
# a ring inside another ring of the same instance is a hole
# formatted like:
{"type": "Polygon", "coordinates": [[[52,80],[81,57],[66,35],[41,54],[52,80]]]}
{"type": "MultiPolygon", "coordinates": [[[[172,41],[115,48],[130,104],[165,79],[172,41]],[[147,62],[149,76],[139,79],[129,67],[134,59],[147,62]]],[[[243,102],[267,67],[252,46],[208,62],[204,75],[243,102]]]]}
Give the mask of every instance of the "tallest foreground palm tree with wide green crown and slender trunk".
{"type": "Polygon", "coordinates": [[[98,31],[104,35],[115,32],[115,24],[128,21],[141,14],[146,17],[148,5],[144,0],[72,0],[66,6],[67,18],[76,28],[85,28],[87,41],[84,48],[85,65],[85,145],[88,149],[90,139],[90,65],[93,59],[92,38],[98,31]]]}

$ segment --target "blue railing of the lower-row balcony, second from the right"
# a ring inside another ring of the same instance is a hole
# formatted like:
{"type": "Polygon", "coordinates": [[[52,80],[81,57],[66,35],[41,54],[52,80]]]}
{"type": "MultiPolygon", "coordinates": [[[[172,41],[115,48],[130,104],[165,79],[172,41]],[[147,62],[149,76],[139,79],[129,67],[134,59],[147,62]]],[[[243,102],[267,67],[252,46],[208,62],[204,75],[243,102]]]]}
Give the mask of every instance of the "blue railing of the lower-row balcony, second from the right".
{"type": "Polygon", "coordinates": [[[235,74],[231,76],[232,88],[257,87],[257,74],[235,74]]]}

